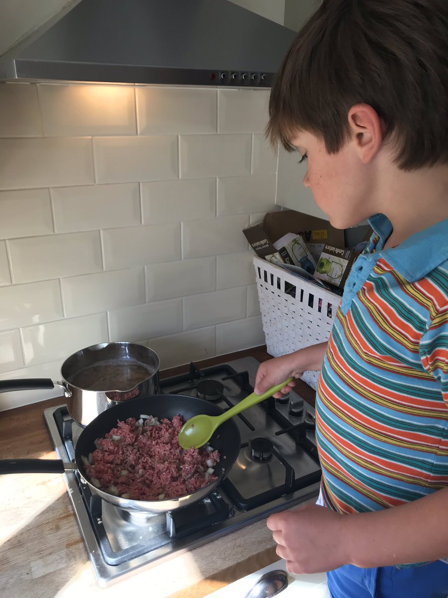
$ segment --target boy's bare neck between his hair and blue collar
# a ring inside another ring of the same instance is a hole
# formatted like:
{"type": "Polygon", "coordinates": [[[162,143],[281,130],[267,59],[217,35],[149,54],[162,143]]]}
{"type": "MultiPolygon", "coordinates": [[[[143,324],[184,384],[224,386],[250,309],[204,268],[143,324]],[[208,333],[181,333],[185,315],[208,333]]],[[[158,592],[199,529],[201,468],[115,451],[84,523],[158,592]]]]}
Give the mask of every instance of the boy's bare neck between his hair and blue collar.
{"type": "Polygon", "coordinates": [[[383,179],[379,210],[392,223],[385,249],[448,218],[448,166],[413,172],[391,169],[383,179]]]}

